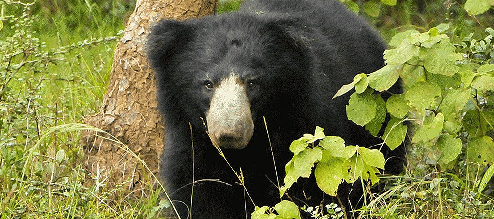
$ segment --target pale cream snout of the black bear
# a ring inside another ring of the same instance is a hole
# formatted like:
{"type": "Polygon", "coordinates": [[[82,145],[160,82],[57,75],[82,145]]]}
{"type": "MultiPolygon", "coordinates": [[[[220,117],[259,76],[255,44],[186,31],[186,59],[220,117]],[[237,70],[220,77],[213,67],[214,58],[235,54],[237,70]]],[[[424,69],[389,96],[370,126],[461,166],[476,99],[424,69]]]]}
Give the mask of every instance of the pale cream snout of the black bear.
{"type": "Polygon", "coordinates": [[[254,122],[246,91],[238,78],[226,78],[215,89],[206,121],[214,146],[228,149],[247,146],[254,133],[254,122]]]}

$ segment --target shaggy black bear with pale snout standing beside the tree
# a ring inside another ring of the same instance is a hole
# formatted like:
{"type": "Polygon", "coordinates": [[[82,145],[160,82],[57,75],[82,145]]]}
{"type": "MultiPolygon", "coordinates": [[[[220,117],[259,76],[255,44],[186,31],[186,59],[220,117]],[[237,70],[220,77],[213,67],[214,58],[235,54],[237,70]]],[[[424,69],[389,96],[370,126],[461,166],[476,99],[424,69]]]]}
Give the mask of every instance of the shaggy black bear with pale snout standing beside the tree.
{"type": "MultiPolygon", "coordinates": [[[[162,20],[147,47],[166,127],[161,169],[183,219],[250,218],[254,204],[278,203],[290,143],[316,126],[348,145],[381,142],[348,121],[348,95],[331,99],[384,65],[385,44],[339,0],[247,0],[235,13],[162,20]]],[[[340,187],[349,209],[359,197],[340,187]]],[[[312,206],[327,198],[311,180],[288,194],[312,206]]]]}

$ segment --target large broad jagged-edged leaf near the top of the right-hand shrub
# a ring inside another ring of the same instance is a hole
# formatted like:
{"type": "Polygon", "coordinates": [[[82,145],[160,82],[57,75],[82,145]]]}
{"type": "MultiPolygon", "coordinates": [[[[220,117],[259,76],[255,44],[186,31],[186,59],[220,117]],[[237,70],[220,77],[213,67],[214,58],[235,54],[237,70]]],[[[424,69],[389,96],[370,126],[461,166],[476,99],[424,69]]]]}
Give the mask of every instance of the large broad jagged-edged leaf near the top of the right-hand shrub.
{"type": "Polygon", "coordinates": [[[420,48],[419,56],[430,73],[453,76],[460,69],[456,66],[456,61],[461,59],[461,56],[454,52],[455,49],[454,45],[445,39],[430,49],[420,48]]]}

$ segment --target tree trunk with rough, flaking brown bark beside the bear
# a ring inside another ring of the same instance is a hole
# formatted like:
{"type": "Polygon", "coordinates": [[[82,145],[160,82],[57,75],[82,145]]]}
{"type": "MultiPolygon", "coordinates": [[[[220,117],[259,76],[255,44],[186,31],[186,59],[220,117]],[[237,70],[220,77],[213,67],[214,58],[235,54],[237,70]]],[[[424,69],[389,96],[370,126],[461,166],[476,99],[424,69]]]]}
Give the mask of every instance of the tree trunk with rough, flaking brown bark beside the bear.
{"type": "MultiPolygon", "coordinates": [[[[211,14],[216,0],[137,0],[136,7],[117,44],[110,83],[103,105],[84,123],[117,137],[157,173],[163,150],[164,125],[156,109],[153,70],[145,57],[146,35],[162,18],[183,20],[211,14]]],[[[84,133],[86,165],[94,176],[113,187],[131,180],[138,182],[143,168],[118,145],[95,133],[84,133]]]]}

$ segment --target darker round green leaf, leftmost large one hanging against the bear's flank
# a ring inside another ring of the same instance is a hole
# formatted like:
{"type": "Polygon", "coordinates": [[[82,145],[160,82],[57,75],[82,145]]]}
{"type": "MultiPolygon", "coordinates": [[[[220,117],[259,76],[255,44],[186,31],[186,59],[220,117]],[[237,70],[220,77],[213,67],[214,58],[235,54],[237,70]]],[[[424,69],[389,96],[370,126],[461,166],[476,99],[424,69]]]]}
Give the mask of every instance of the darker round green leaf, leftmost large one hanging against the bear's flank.
{"type": "Polygon", "coordinates": [[[375,117],[375,113],[376,101],[372,98],[371,89],[362,94],[353,93],[350,96],[346,106],[346,115],[355,124],[364,126],[375,117]]]}

